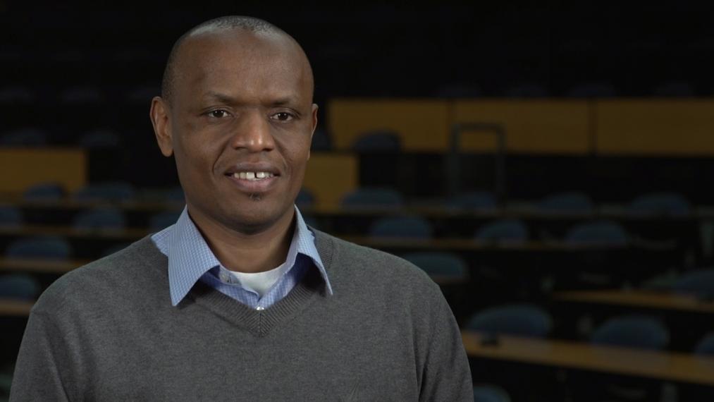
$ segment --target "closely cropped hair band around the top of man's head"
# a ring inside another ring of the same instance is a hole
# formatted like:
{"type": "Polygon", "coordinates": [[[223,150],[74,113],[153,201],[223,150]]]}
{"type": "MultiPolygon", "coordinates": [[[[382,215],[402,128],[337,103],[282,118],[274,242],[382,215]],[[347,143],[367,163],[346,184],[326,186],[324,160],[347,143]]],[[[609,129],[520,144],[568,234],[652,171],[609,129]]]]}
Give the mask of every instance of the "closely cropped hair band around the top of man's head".
{"type": "Polygon", "coordinates": [[[290,50],[296,53],[296,64],[302,65],[308,74],[310,97],[312,98],[314,84],[310,62],[301,46],[292,36],[262,19],[250,16],[222,16],[194,26],[185,34],[181,35],[174,44],[174,47],[171,48],[171,53],[169,54],[169,59],[166,61],[166,68],[164,69],[164,77],[161,80],[161,97],[165,101],[171,102],[171,97],[174,95],[177,81],[176,76],[180,73],[181,64],[184,62],[182,59],[183,53],[185,52],[182,50],[186,47],[186,42],[192,39],[201,39],[206,36],[220,35],[262,36],[264,39],[282,42],[288,49],[292,48],[290,50]]]}

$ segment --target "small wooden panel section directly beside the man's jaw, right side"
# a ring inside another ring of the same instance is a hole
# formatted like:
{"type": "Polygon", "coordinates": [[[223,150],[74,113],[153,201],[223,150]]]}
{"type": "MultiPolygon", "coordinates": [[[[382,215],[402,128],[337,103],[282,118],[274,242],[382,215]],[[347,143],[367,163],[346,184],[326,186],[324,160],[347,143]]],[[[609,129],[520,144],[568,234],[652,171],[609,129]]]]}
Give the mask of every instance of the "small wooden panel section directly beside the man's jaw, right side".
{"type": "Polygon", "coordinates": [[[313,152],[303,187],[315,196],[316,206],[335,208],[344,194],[357,188],[358,175],[356,156],[313,152]]]}

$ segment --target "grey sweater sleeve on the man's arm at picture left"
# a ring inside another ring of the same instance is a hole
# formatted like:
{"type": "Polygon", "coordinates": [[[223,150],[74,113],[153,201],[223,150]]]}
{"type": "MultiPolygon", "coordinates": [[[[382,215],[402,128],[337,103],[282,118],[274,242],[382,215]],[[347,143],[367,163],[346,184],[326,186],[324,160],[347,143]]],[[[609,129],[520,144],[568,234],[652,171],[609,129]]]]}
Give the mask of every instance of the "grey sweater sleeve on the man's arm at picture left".
{"type": "Polygon", "coordinates": [[[61,334],[53,330],[49,317],[30,314],[15,366],[10,401],[70,400],[61,372],[69,368],[69,361],[59,358],[66,351],[59,350],[61,334]]]}

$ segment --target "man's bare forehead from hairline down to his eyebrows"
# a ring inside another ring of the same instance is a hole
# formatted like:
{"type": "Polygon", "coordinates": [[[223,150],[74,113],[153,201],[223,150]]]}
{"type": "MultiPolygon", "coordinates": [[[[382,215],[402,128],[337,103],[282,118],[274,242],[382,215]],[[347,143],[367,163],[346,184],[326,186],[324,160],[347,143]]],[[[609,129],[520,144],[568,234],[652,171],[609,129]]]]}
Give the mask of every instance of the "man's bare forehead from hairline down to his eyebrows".
{"type": "Polygon", "coordinates": [[[175,74],[176,92],[192,98],[216,91],[312,97],[306,56],[281,34],[232,29],[189,37],[178,51],[175,74]]]}

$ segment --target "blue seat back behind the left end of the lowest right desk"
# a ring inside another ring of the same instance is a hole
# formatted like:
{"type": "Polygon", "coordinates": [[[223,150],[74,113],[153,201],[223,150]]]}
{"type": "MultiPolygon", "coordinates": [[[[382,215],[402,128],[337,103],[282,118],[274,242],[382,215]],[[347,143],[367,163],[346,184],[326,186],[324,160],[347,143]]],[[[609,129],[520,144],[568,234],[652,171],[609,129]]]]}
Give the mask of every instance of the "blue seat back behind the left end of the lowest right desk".
{"type": "Polygon", "coordinates": [[[533,304],[506,304],[474,314],[466,329],[485,333],[543,338],[553,328],[553,318],[533,304]]]}

